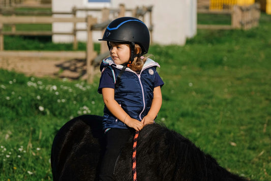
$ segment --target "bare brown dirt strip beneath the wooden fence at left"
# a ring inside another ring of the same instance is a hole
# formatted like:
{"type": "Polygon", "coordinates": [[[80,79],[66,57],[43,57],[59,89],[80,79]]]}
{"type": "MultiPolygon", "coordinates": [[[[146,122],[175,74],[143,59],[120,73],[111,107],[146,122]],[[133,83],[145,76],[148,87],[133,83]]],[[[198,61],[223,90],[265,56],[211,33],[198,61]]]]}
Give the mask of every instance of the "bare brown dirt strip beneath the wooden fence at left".
{"type": "Polygon", "coordinates": [[[85,59],[0,57],[0,68],[26,76],[85,79],[85,59]]]}

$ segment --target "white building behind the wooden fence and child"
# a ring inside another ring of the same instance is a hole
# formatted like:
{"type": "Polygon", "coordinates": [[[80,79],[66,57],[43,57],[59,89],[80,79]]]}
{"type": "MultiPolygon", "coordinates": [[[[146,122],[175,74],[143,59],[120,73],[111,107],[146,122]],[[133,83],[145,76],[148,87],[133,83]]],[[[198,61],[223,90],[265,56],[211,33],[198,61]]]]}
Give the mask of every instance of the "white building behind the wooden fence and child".
{"type": "MultiPolygon", "coordinates": [[[[53,12],[71,12],[72,8],[118,8],[119,4],[124,4],[128,9],[134,9],[137,6],[153,6],[153,37],[154,43],[168,45],[177,44],[184,45],[187,38],[196,35],[197,23],[197,1],[196,0],[52,0],[53,12]]],[[[77,17],[85,17],[87,12],[78,12],[77,17]]],[[[93,17],[97,17],[98,21],[101,19],[101,13],[92,12],[93,17]]],[[[64,16],[64,15],[55,15],[64,16]]],[[[68,16],[68,15],[66,15],[68,16]]],[[[131,14],[125,14],[131,16],[131,14]]],[[[148,18],[146,18],[148,19],[148,18]]],[[[148,22],[145,22],[148,25],[148,22]]],[[[85,23],[77,23],[77,28],[85,28],[85,23]]],[[[52,30],[54,32],[71,32],[73,28],[72,23],[54,23],[52,30]]],[[[102,38],[102,32],[96,32],[94,40],[102,38]]],[[[78,41],[86,40],[85,32],[77,33],[78,41]]],[[[54,35],[54,42],[72,42],[72,36],[54,35]]]]}

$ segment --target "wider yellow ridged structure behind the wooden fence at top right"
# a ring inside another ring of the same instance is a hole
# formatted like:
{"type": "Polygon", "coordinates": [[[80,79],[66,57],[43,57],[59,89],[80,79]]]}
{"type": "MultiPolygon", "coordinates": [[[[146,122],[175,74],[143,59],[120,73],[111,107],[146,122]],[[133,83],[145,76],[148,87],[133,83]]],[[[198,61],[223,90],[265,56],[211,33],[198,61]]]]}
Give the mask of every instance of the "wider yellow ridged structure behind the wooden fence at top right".
{"type": "MultiPolygon", "coordinates": [[[[233,5],[252,5],[255,0],[209,0],[211,10],[222,10],[224,7],[232,7],[233,5]]],[[[267,0],[271,1],[271,0],[267,0]]]]}

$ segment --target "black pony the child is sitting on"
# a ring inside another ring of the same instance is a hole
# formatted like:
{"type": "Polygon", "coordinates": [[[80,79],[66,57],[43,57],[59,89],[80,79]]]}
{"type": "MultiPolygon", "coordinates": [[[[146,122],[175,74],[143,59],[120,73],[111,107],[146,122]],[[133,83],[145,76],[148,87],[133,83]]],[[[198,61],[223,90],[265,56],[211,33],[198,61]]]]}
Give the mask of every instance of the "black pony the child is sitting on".
{"type": "MultiPolygon", "coordinates": [[[[53,180],[97,180],[103,154],[102,117],[81,115],[56,134],[51,150],[53,180]]],[[[115,180],[133,180],[133,137],[115,166],[115,180]]],[[[137,142],[137,180],[247,180],[219,166],[189,139],[159,124],[147,125],[137,142]]]]}

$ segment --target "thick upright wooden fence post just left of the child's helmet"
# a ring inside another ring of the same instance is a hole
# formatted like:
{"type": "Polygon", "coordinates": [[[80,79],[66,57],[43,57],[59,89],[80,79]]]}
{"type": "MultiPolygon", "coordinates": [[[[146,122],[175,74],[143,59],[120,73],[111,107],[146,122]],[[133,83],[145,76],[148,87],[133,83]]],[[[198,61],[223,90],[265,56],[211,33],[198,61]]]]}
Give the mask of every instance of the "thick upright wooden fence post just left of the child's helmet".
{"type": "Polygon", "coordinates": [[[93,18],[91,15],[88,15],[86,18],[86,33],[87,33],[87,42],[86,42],[86,76],[87,82],[93,83],[94,77],[94,66],[93,59],[96,57],[97,53],[94,51],[94,42],[92,38],[92,25],[97,22],[96,18],[93,18]]]}

